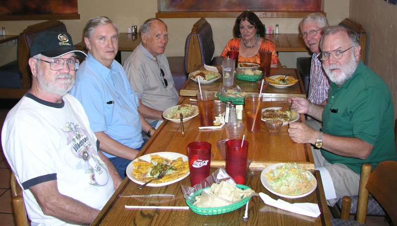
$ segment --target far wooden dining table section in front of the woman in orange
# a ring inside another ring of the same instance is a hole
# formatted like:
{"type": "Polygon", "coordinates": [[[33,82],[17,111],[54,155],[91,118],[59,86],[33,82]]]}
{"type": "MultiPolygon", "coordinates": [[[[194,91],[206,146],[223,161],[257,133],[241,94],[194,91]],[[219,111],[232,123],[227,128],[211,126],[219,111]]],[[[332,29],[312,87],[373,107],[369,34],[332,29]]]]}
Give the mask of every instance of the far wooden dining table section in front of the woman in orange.
{"type": "MultiPolygon", "coordinates": [[[[302,77],[299,74],[298,70],[290,69],[290,68],[271,68],[270,75],[288,75],[292,76],[299,81],[286,88],[276,88],[271,85],[267,87],[265,92],[263,93],[264,97],[291,97],[291,96],[300,96],[306,98],[305,87],[302,82],[302,77]]],[[[214,91],[218,92],[219,85],[223,83],[222,77],[218,78],[218,80],[209,83],[209,84],[200,84],[201,90],[214,91]]],[[[233,86],[239,85],[241,90],[247,93],[258,93],[259,89],[255,81],[246,81],[237,79],[237,76],[234,76],[234,84],[233,86]]],[[[179,94],[181,96],[196,96],[197,92],[199,92],[199,84],[192,79],[187,79],[185,84],[179,90],[179,94]]]]}

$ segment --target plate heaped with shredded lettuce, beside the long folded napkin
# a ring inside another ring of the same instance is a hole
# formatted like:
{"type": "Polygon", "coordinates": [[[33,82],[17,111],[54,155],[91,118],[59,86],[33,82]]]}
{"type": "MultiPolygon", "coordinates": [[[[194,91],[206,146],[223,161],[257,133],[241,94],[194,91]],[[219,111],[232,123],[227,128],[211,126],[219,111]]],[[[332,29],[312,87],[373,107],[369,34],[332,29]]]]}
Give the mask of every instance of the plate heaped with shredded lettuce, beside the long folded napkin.
{"type": "Polygon", "coordinates": [[[269,165],[261,173],[261,182],[269,192],[290,199],[307,196],[317,187],[314,175],[295,162],[269,165]]]}

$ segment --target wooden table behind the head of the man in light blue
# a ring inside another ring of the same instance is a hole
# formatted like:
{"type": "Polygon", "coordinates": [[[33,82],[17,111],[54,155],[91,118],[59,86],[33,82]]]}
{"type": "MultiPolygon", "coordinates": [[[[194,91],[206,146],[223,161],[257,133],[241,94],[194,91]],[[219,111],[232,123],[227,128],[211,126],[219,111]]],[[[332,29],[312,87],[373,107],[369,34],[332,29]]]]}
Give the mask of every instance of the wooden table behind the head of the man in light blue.
{"type": "MultiPolygon", "coordinates": [[[[115,60],[121,64],[121,52],[122,51],[133,51],[141,42],[140,33],[129,34],[120,33],[119,34],[119,51],[117,52],[115,60]]],[[[84,41],[74,45],[77,50],[87,51],[84,41]]]]}

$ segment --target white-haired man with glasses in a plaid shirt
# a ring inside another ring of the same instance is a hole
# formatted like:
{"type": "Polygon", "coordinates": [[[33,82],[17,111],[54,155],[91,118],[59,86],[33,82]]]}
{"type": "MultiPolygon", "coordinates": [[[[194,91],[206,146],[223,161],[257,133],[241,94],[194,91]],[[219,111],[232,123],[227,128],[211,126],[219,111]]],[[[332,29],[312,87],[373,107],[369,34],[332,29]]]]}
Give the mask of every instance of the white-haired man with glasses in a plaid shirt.
{"type": "MultiPolygon", "coordinates": [[[[322,29],[328,26],[328,20],[321,12],[310,13],[302,19],[299,26],[300,37],[313,53],[307,99],[314,104],[325,104],[331,84],[322,67],[320,40],[323,36],[322,29]]],[[[308,117],[306,123],[315,130],[321,128],[321,123],[311,117],[308,117]]]]}

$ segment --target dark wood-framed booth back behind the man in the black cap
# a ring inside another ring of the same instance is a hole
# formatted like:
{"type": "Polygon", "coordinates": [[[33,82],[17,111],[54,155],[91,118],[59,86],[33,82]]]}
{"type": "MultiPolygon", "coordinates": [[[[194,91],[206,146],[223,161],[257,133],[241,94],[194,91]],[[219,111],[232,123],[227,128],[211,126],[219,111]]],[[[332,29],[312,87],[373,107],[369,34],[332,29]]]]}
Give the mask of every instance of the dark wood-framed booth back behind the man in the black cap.
{"type": "Polygon", "coordinates": [[[44,31],[67,32],[66,26],[59,20],[48,20],[28,26],[18,37],[17,65],[20,73],[20,85],[15,88],[0,88],[0,99],[19,99],[32,85],[32,77],[28,64],[30,46],[33,39],[44,31]]]}

